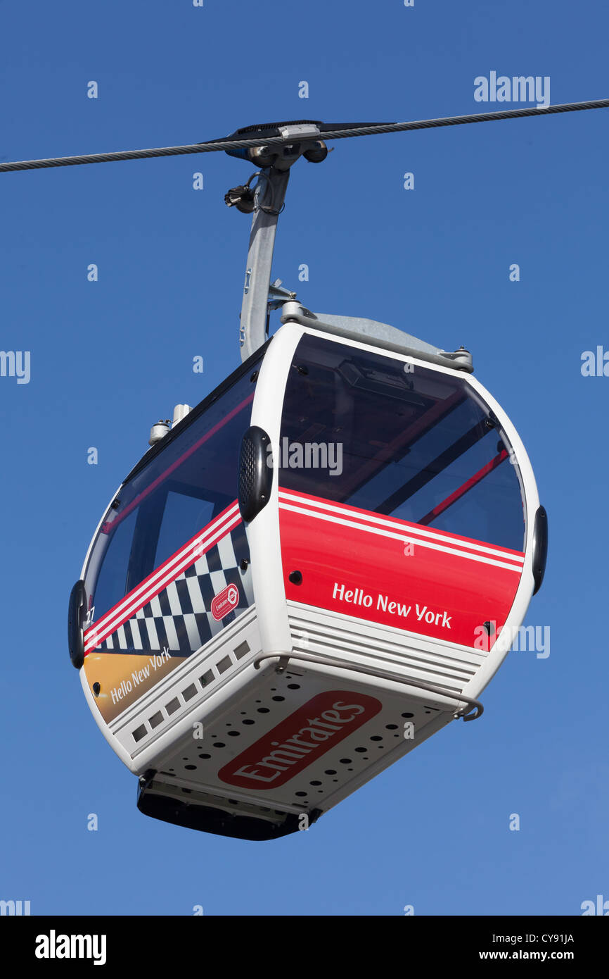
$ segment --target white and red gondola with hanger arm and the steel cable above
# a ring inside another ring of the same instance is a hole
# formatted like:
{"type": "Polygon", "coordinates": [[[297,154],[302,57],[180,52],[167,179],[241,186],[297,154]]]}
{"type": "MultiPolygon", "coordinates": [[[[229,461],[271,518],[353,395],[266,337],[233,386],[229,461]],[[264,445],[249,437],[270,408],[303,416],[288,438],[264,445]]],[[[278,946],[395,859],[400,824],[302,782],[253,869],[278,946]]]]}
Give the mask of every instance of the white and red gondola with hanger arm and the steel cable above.
{"type": "Polygon", "coordinates": [[[224,149],[262,167],[226,198],[253,213],[241,366],[152,428],[70,595],[72,664],[148,816],[252,840],[308,828],[441,727],[480,717],[542,583],[531,463],[470,353],[315,314],[269,285],[292,163],[322,162],[326,139],[455,121],[300,120],[0,164],[224,149]]]}

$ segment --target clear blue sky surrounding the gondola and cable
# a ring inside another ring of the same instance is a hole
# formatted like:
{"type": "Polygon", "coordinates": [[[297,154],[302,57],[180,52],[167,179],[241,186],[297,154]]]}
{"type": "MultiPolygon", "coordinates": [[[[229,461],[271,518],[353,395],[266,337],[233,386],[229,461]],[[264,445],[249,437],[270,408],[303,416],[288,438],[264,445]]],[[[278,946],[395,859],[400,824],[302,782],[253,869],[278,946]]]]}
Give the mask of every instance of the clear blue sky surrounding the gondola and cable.
{"type": "MultiPolygon", "coordinates": [[[[591,0],[0,2],[0,158],[475,113],[492,70],[549,76],[552,103],[604,98],[608,29],[591,0]]],[[[551,648],[510,653],[479,723],[274,843],[141,816],[65,640],[89,539],[152,423],[239,363],[249,221],[223,196],[252,168],[210,154],[0,174],[0,347],[31,354],[28,384],[0,378],[0,898],[238,915],[579,914],[609,898],[609,378],[581,371],[585,350],[609,349],[608,127],[601,110],[336,141],[294,167],[275,275],[315,310],[463,344],[516,425],[550,528],[527,624],[551,648]]]]}

